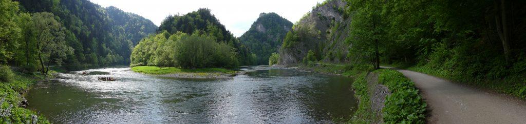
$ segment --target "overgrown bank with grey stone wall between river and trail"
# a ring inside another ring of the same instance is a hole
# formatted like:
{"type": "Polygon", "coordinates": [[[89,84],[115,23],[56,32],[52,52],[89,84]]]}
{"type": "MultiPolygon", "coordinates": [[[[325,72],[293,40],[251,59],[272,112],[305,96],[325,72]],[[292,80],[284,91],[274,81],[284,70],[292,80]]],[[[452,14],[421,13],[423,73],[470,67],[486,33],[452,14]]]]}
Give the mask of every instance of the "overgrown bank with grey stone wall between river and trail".
{"type": "Polygon", "coordinates": [[[349,123],[426,122],[427,103],[414,82],[396,70],[379,69],[361,74],[352,87],[360,101],[349,123]]]}

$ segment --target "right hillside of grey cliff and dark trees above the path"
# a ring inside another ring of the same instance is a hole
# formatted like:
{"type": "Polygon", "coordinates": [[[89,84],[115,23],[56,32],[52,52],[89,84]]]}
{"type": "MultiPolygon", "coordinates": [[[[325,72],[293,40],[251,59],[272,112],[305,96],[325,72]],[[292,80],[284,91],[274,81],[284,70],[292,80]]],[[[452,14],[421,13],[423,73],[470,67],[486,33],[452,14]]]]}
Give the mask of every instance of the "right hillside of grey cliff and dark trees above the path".
{"type": "Polygon", "coordinates": [[[328,0],[294,25],[277,56],[282,65],[340,59],[351,67],[411,67],[526,97],[524,5],[500,0],[328,0]],[[328,50],[332,48],[336,50],[328,50]]]}

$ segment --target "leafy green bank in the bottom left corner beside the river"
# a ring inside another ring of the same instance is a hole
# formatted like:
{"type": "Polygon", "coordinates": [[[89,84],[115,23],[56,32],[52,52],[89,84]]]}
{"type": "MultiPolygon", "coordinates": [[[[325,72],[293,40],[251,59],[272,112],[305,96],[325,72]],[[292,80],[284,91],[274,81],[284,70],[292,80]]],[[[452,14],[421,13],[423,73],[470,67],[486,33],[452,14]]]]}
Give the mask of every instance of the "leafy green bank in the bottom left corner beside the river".
{"type": "MultiPolygon", "coordinates": [[[[51,73],[51,72],[50,72],[51,73]]],[[[39,80],[50,78],[39,74],[23,74],[12,72],[8,67],[0,67],[0,123],[31,123],[37,119],[37,123],[49,123],[42,115],[22,107],[18,107],[22,100],[21,92],[39,80]]]]}

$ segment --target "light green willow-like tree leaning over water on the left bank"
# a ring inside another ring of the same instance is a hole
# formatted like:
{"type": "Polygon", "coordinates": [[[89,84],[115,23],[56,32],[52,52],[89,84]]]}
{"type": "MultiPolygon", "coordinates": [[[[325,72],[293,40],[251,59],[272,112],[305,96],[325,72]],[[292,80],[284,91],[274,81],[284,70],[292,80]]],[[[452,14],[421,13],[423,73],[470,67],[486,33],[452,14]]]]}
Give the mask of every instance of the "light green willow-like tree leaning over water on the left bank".
{"type": "Polygon", "coordinates": [[[47,75],[49,65],[52,62],[60,65],[67,54],[73,53],[73,48],[67,46],[65,28],[55,20],[52,13],[35,13],[33,14],[33,22],[37,38],[38,60],[41,64],[42,74],[47,75]]]}

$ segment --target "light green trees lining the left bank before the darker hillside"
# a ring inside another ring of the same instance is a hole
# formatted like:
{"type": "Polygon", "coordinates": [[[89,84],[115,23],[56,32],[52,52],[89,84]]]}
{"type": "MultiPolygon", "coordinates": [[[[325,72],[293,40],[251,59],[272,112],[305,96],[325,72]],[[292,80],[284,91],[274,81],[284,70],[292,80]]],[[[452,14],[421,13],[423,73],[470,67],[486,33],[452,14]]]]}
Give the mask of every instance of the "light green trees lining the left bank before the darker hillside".
{"type": "Polygon", "coordinates": [[[2,0],[0,17],[0,64],[9,61],[28,71],[38,66],[47,74],[51,64],[61,65],[73,48],[66,40],[75,39],[52,13],[19,12],[18,3],[2,0]]]}

